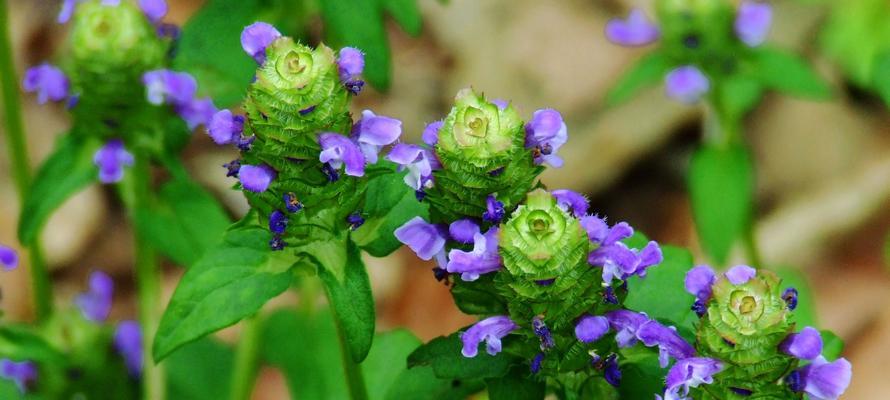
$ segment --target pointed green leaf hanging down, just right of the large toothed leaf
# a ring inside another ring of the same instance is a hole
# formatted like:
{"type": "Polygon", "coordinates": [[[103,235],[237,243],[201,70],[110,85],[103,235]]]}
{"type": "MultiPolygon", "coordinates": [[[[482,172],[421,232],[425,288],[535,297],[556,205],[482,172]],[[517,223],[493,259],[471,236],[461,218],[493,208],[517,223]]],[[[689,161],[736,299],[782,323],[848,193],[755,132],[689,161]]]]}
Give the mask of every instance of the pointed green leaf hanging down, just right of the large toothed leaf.
{"type": "Polygon", "coordinates": [[[358,363],[367,357],[374,341],[374,297],[361,252],[349,243],[346,254],[346,270],[342,280],[321,260],[316,262],[319,263],[318,276],[324,283],[338,328],[346,337],[350,356],[358,363]]]}

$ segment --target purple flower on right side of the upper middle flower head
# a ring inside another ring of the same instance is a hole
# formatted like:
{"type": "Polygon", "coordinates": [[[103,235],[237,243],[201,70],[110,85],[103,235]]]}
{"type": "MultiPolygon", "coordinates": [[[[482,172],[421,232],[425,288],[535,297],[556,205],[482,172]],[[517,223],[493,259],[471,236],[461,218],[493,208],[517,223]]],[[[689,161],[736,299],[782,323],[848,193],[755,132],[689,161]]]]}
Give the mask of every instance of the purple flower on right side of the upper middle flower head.
{"type": "Polygon", "coordinates": [[[531,121],[525,124],[525,147],[533,150],[535,164],[547,163],[555,168],[562,167],[562,158],[556,152],[568,139],[568,130],[562,121],[562,115],[554,109],[535,111],[531,121]]]}

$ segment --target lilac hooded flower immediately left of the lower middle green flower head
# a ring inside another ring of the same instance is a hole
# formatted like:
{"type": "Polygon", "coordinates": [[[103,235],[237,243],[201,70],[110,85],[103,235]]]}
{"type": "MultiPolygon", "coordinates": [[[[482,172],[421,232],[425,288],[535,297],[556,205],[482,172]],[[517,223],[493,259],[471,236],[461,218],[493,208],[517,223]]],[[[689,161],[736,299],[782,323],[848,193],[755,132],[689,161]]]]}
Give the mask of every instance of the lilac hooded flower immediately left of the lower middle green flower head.
{"type": "Polygon", "coordinates": [[[448,264],[445,269],[461,274],[465,281],[475,281],[479,275],[501,269],[501,255],[498,254],[498,229],[491,228],[485,234],[473,236],[473,250],[466,252],[452,249],[448,252],[448,264]]]}

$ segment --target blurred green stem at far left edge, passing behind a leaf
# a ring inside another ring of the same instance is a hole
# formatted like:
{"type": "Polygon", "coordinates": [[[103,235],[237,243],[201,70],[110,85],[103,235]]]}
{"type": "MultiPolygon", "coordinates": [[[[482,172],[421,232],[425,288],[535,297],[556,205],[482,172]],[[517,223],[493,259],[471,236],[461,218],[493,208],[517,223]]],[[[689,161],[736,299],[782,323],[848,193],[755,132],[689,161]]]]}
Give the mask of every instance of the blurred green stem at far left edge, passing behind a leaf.
{"type": "MultiPolygon", "coordinates": [[[[9,38],[9,9],[6,0],[0,0],[0,86],[3,88],[3,115],[6,117],[6,145],[9,148],[12,176],[19,192],[19,204],[25,203],[31,185],[31,168],[25,142],[22,106],[19,98],[19,79],[12,60],[12,42],[9,38]]],[[[39,236],[39,235],[38,235],[39,236]]],[[[24,243],[30,249],[31,285],[34,308],[38,320],[46,320],[52,314],[53,292],[49,272],[43,257],[39,239],[24,243]]]]}

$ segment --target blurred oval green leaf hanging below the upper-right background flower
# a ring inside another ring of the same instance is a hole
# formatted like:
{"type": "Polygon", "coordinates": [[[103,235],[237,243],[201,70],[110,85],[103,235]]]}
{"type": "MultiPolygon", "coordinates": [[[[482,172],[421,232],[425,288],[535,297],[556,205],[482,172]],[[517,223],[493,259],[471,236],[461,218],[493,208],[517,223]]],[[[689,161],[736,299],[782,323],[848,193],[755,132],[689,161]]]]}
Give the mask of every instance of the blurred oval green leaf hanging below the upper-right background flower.
{"type": "Polygon", "coordinates": [[[719,265],[751,223],[754,166],[742,147],[705,145],[689,165],[692,214],[702,247],[719,265]]]}

